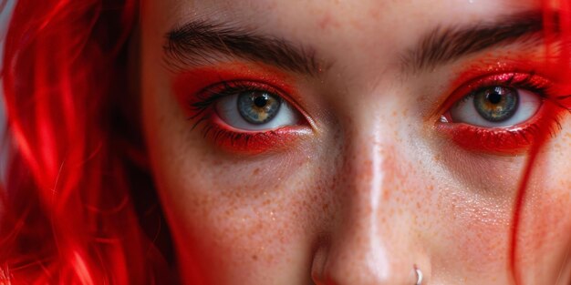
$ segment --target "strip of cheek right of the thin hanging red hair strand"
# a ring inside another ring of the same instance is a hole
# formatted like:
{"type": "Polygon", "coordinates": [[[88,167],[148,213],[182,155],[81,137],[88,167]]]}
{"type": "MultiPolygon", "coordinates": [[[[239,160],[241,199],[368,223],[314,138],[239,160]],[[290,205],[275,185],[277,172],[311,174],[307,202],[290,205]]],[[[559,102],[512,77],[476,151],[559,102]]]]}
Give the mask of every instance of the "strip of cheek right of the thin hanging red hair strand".
{"type": "Polygon", "coordinates": [[[560,270],[569,266],[571,164],[565,160],[571,156],[554,154],[535,166],[518,234],[518,266],[530,283],[555,284],[560,270]]]}

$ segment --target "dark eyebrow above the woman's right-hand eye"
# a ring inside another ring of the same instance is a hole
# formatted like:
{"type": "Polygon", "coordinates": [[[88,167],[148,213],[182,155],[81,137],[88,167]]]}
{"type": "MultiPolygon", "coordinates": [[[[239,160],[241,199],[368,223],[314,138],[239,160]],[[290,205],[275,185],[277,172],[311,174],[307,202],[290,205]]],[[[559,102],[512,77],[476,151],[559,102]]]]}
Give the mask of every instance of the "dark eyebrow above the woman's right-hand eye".
{"type": "Polygon", "coordinates": [[[508,15],[501,17],[499,22],[469,27],[438,26],[422,37],[417,46],[400,56],[401,66],[403,70],[415,73],[492,47],[515,42],[537,44],[542,39],[543,28],[541,11],[508,15]]]}

